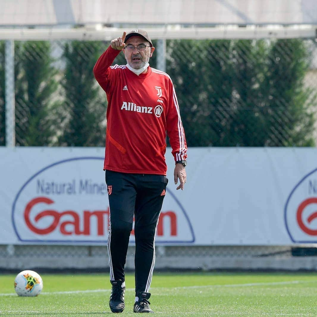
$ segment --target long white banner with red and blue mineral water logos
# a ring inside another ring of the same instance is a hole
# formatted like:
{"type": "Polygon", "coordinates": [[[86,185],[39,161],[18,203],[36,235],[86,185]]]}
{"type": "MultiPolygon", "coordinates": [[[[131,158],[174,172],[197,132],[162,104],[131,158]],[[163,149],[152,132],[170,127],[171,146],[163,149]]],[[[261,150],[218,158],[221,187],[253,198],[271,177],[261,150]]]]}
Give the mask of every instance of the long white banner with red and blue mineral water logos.
{"type": "MultiPolygon", "coordinates": [[[[317,149],[190,148],[184,191],[170,152],[157,244],[317,243],[317,149]]],[[[103,159],[103,148],[0,148],[0,243],[106,244],[103,159]]]]}

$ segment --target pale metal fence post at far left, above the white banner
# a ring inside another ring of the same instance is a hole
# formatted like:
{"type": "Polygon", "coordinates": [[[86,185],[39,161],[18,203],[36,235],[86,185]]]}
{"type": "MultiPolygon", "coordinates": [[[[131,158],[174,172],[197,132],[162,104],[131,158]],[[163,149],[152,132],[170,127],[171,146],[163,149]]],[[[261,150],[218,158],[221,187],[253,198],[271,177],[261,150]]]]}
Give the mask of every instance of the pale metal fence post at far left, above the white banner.
{"type": "Polygon", "coordinates": [[[15,94],[14,94],[14,41],[5,41],[5,143],[7,147],[16,144],[15,94]]]}

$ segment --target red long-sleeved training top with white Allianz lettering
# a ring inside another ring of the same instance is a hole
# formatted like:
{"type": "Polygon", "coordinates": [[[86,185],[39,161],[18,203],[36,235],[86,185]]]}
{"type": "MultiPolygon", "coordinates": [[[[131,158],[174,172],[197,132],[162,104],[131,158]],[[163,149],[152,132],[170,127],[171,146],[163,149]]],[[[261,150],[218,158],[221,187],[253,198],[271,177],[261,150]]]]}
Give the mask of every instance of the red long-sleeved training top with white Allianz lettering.
{"type": "Polygon", "coordinates": [[[94,66],[108,100],[104,170],[166,175],[166,131],[175,161],[187,157],[173,83],[155,68],[138,76],[126,65],[110,66],[119,53],[109,46],[94,66]]]}

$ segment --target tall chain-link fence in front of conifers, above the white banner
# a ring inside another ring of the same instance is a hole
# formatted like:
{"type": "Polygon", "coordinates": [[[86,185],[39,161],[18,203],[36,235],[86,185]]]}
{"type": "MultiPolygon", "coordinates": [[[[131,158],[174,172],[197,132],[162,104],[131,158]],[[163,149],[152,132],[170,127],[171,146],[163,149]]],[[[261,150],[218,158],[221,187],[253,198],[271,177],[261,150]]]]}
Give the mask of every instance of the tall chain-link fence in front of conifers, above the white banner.
{"type": "MultiPolygon", "coordinates": [[[[15,41],[17,146],[104,146],[107,100],[92,69],[108,45],[15,41]]],[[[0,42],[2,146],[4,46],[0,42]]],[[[316,52],[313,39],[167,40],[166,72],[188,145],[314,146],[316,52]]],[[[115,63],[126,64],[122,53],[115,63]]]]}

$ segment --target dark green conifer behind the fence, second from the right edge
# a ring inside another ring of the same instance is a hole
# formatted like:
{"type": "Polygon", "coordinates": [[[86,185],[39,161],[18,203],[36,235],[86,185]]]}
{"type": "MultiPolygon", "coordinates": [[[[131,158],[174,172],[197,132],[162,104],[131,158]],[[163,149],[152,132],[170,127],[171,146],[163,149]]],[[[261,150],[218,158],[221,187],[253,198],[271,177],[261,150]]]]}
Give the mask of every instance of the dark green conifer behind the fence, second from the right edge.
{"type": "Polygon", "coordinates": [[[238,40],[233,42],[231,59],[233,68],[231,120],[224,139],[231,146],[265,146],[270,44],[264,40],[238,40]]]}

